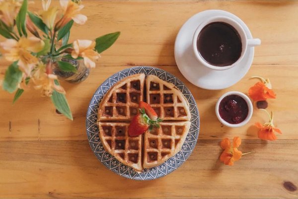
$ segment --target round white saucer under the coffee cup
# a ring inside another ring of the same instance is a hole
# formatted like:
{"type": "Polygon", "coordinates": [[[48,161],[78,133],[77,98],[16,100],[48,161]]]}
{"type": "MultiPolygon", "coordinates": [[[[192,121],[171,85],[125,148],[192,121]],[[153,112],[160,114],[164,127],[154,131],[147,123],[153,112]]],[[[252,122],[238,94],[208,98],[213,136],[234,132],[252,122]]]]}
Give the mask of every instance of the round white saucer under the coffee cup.
{"type": "Polygon", "coordinates": [[[228,70],[215,71],[198,62],[192,49],[193,35],[200,23],[213,16],[231,17],[244,28],[248,39],[252,39],[248,27],[237,16],[223,10],[205,10],[189,18],[179,30],[175,41],[175,60],[189,82],[203,89],[220,90],[236,84],[245,76],[253,60],[254,47],[247,49],[239,65],[228,70]]]}

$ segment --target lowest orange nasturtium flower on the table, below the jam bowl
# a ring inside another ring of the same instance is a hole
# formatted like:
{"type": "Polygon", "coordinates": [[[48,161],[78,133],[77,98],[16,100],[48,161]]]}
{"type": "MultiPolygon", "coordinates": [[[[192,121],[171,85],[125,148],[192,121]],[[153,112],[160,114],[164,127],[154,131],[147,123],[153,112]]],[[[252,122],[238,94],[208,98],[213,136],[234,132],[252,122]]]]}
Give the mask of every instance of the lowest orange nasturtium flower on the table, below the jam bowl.
{"type": "Polygon", "coordinates": [[[238,151],[238,147],[241,144],[241,138],[234,137],[233,144],[231,146],[231,142],[228,138],[224,138],[221,141],[221,147],[224,149],[220,160],[225,164],[232,166],[234,165],[234,161],[237,161],[241,158],[242,152],[238,151]]]}

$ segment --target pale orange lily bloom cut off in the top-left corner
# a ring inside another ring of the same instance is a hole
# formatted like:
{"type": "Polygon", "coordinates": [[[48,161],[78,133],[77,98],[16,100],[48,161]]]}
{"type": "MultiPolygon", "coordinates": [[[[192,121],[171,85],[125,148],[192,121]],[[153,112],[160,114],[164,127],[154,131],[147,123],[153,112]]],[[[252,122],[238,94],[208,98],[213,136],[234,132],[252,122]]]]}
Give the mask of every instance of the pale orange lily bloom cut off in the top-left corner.
{"type": "Polygon", "coordinates": [[[12,27],[20,6],[19,0],[0,0],[0,20],[12,27]]]}

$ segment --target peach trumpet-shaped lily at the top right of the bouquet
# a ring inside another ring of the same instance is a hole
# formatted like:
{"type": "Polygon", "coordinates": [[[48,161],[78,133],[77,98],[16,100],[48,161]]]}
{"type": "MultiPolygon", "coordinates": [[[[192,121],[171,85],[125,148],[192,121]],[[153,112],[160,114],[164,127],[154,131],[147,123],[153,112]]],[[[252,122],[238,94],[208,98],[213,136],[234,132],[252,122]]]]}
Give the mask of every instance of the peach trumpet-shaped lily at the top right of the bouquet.
{"type": "Polygon", "coordinates": [[[72,19],[79,25],[83,25],[86,22],[87,17],[80,14],[80,10],[84,7],[80,3],[75,3],[72,0],[60,0],[60,5],[64,9],[64,14],[57,22],[55,30],[60,29],[72,19]]]}

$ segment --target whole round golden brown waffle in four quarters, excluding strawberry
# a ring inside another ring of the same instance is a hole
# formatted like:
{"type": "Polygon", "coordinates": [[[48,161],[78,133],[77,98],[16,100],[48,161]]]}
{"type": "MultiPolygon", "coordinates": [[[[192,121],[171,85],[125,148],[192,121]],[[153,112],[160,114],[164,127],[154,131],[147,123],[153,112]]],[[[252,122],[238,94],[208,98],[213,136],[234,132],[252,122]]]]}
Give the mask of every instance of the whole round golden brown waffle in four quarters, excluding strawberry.
{"type": "Polygon", "coordinates": [[[129,122],[139,113],[144,85],[145,74],[129,76],[110,88],[98,108],[99,137],[104,149],[139,172],[175,155],[190,128],[189,104],[183,94],[173,84],[149,75],[147,102],[164,121],[160,128],[130,137],[129,122]]]}

